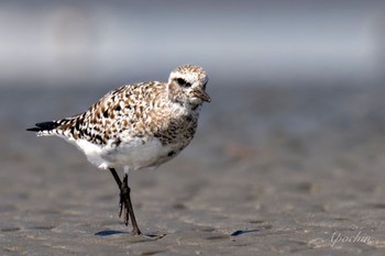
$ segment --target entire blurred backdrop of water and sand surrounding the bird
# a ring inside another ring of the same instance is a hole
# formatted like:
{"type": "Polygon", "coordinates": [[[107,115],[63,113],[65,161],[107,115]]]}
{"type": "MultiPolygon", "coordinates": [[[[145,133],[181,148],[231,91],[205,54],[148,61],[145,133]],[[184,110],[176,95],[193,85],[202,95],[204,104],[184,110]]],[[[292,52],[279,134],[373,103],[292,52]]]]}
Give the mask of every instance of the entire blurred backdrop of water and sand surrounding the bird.
{"type": "Polygon", "coordinates": [[[384,255],[384,0],[1,0],[0,254],[384,255]],[[167,233],[140,243],[110,174],[25,129],[182,64],[212,101],[130,176],[142,231],[167,233]]]}

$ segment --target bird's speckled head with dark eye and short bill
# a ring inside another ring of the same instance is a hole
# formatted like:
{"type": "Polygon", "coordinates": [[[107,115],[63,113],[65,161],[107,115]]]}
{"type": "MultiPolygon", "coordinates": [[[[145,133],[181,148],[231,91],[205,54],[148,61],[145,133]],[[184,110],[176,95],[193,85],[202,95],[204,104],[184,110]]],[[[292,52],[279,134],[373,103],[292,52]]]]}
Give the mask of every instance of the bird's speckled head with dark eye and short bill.
{"type": "Polygon", "coordinates": [[[168,98],[182,104],[198,105],[204,101],[210,102],[206,93],[206,85],[209,78],[206,71],[198,66],[184,65],[169,74],[168,98]]]}

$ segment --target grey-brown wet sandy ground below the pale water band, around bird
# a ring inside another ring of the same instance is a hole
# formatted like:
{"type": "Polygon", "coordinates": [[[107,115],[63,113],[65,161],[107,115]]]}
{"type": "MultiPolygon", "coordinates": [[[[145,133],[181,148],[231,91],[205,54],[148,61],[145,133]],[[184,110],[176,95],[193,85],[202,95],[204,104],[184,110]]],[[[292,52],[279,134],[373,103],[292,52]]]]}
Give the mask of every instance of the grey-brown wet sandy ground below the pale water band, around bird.
{"type": "Polygon", "coordinates": [[[0,89],[0,255],[384,255],[385,89],[219,88],[191,145],[118,188],[25,127],[106,90],[0,89]]]}

